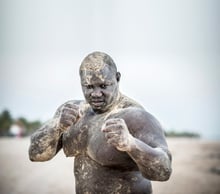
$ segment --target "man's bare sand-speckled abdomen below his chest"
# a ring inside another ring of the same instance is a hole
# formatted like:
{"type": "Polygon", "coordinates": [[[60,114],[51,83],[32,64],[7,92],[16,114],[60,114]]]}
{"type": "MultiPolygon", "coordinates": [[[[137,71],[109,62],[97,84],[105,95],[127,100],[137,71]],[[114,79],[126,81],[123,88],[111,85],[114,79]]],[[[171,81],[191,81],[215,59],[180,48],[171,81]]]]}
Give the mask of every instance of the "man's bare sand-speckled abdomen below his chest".
{"type": "Polygon", "coordinates": [[[139,171],[104,167],[79,155],[74,161],[76,194],[150,194],[151,183],[139,171]]]}

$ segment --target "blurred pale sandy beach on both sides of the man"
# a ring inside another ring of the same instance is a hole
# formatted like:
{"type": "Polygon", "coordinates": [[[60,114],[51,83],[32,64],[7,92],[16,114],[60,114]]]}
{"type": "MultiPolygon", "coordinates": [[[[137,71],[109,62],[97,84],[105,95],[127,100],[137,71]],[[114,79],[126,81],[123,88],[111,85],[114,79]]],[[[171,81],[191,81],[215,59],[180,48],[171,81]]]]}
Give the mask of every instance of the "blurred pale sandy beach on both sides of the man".
{"type": "MultiPolygon", "coordinates": [[[[173,173],[152,182],[154,194],[219,194],[220,142],[168,138],[173,173]]],[[[0,138],[1,194],[74,194],[73,158],[61,150],[48,162],[30,162],[29,138],[0,138]]]]}

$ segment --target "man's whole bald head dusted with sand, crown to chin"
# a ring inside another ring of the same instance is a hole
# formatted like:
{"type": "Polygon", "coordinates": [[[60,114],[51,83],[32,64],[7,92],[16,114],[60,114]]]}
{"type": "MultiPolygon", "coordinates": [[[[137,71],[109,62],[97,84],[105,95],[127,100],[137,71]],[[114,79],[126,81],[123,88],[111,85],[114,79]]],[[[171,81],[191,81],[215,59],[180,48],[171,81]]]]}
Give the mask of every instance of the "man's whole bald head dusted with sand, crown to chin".
{"type": "Polygon", "coordinates": [[[80,66],[80,78],[84,97],[95,112],[105,112],[116,104],[120,73],[109,55],[89,54],[80,66]]]}

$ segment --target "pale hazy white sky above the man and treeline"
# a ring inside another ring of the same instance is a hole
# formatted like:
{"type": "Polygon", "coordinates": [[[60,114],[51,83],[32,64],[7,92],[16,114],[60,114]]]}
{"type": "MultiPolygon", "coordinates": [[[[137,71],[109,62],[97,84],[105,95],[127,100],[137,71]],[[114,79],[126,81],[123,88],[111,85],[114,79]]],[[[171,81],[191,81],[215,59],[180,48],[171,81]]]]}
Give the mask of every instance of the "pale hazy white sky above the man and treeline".
{"type": "Polygon", "coordinates": [[[121,90],[165,128],[220,139],[218,0],[1,0],[0,111],[47,120],[83,98],[78,68],[112,56],[121,90]]]}

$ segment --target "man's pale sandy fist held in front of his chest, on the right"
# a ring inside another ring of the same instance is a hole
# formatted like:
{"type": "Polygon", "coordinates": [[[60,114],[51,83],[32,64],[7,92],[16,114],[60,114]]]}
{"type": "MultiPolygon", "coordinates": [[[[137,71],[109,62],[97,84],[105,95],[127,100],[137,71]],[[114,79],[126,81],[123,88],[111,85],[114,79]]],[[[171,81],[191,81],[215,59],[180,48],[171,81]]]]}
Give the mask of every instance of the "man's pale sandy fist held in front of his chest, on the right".
{"type": "Polygon", "coordinates": [[[102,126],[102,132],[105,133],[107,143],[115,146],[119,151],[129,151],[133,136],[123,119],[108,119],[102,126]]]}

